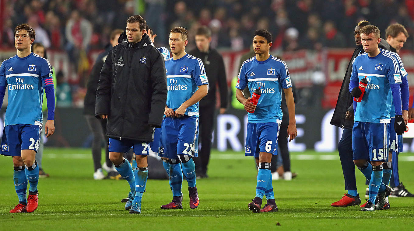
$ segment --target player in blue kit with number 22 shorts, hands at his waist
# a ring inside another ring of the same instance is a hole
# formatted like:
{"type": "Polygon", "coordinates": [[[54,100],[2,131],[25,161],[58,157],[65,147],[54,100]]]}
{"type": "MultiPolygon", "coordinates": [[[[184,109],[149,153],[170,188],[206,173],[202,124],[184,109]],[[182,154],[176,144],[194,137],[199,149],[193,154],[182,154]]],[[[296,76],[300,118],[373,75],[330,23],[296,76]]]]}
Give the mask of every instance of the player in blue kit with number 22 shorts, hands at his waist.
{"type": "Polygon", "coordinates": [[[161,209],[183,208],[183,173],[188,182],[190,208],[197,208],[200,202],[191,157],[197,157],[198,101],[207,95],[208,79],[202,61],[185,52],[187,44],[187,30],[174,27],[169,37],[173,57],[165,62],[168,95],[158,150],[160,157],[168,158],[173,200],[161,209]]]}

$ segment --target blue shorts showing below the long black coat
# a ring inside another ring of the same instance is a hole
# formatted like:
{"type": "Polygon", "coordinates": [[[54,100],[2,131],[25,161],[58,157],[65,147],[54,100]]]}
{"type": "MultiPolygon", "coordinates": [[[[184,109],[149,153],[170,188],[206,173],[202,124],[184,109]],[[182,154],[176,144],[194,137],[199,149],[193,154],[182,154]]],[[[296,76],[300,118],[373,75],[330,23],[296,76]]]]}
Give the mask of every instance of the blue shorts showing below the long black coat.
{"type": "Polygon", "coordinates": [[[148,142],[130,140],[130,139],[113,139],[109,138],[108,150],[110,152],[125,152],[131,148],[136,155],[148,155],[148,142]]]}

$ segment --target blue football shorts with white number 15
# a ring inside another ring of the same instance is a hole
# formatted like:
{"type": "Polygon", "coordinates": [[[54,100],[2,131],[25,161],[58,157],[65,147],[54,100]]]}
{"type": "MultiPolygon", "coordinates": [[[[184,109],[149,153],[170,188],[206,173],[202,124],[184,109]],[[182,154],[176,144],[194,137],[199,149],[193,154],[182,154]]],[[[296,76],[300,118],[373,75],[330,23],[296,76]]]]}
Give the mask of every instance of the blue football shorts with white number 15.
{"type": "Polygon", "coordinates": [[[388,162],[390,124],[354,122],[352,150],[354,160],[388,162]]]}

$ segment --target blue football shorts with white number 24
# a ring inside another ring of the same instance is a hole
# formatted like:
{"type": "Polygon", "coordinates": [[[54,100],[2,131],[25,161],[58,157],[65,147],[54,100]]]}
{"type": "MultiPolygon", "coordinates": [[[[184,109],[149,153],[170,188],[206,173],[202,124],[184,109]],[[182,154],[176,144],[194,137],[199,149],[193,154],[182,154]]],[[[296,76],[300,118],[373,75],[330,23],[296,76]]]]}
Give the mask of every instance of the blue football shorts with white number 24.
{"type": "Polygon", "coordinates": [[[21,156],[22,150],[39,150],[42,126],[32,124],[7,125],[3,130],[1,154],[21,156]]]}

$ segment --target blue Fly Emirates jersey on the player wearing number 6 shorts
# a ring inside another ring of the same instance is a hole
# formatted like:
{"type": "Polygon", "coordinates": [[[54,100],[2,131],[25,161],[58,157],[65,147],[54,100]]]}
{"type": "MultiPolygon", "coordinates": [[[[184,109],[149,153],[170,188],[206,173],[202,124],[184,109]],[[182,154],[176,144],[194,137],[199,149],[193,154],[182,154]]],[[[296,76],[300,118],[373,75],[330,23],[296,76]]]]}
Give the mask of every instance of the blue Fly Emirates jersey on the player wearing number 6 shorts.
{"type": "Polygon", "coordinates": [[[256,57],[243,62],[238,74],[236,88],[243,90],[248,86],[250,93],[260,87],[262,94],[254,113],[248,113],[250,123],[282,123],[282,88],[292,86],[286,62],[270,55],[265,61],[256,57]]]}

